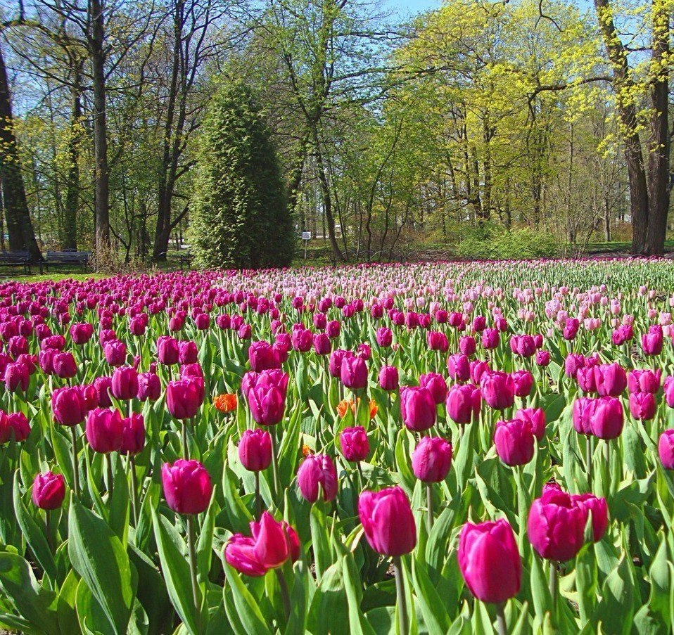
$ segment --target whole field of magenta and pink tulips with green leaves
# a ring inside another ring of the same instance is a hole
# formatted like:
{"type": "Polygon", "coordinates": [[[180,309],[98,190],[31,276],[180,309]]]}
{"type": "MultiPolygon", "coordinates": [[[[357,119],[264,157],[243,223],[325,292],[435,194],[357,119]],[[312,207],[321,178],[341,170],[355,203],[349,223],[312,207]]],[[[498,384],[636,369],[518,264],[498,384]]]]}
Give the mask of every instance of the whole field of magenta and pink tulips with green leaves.
{"type": "Polygon", "coordinates": [[[667,633],[674,264],[0,284],[0,631],[667,633]]]}

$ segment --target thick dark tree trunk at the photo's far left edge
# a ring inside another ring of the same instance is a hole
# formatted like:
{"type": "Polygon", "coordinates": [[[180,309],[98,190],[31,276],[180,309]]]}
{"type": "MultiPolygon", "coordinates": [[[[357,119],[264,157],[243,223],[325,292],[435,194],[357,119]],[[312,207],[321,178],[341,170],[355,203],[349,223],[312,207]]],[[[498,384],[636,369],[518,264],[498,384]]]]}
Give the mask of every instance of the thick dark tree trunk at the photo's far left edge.
{"type": "Polygon", "coordinates": [[[0,183],[12,251],[27,251],[33,262],[42,260],[33,231],[21,159],[14,134],[14,120],[5,60],[0,49],[0,183]]]}

